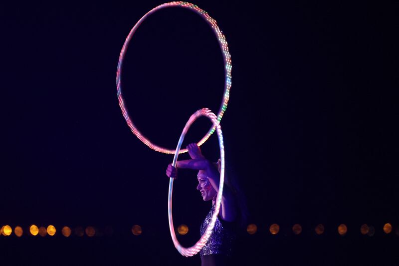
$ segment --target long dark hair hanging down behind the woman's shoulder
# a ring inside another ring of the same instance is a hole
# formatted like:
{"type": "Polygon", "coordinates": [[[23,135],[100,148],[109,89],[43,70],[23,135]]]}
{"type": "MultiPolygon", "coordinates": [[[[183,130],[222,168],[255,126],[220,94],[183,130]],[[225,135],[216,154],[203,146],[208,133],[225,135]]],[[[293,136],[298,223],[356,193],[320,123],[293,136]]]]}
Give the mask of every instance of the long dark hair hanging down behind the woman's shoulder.
{"type": "MultiPolygon", "coordinates": [[[[214,163],[214,166],[217,168],[217,171],[219,171],[219,173],[220,163],[220,159],[217,160],[216,163],[214,163]]],[[[234,205],[238,214],[238,217],[236,219],[237,224],[239,227],[244,228],[247,226],[249,216],[248,207],[246,204],[246,197],[241,189],[236,175],[232,171],[230,171],[230,169],[226,165],[224,165],[224,185],[228,187],[228,189],[232,192],[234,196],[234,205]]]]}

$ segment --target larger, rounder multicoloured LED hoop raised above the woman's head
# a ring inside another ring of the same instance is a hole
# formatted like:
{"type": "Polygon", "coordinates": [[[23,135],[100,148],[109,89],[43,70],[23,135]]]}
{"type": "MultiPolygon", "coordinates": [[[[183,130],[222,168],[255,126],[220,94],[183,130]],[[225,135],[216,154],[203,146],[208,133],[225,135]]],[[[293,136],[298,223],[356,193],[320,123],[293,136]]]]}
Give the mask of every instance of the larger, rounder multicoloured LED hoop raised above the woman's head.
{"type": "MultiPolygon", "coordinates": [[[[134,27],[130,31],[129,35],[127,36],[125,43],[123,44],[121,54],[119,55],[118,68],[116,71],[116,87],[118,90],[119,106],[121,107],[123,117],[125,117],[126,122],[127,122],[128,126],[130,127],[130,130],[133,132],[133,134],[135,134],[144,144],[146,144],[151,149],[156,150],[158,152],[168,153],[168,154],[174,154],[175,150],[166,149],[166,148],[157,146],[154,143],[152,143],[148,138],[146,138],[143,134],[141,134],[141,132],[137,129],[137,127],[133,123],[132,119],[130,119],[128,110],[125,106],[125,101],[123,100],[123,96],[122,96],[122,81],[121,80],[122,80],[122,64],[123,64],[123,59],[126,54],[126,49],[129,45],[131,38],[133,37],[133,34],[136,32],[139,25],[144,21],[144,19],[147,18],[147,16],[149,16],[153,12],[155,12],[159,9],[165,8],[165,7],[173,7],[173,6],[185,7],[185,8],[188,8],[188,9],[193,10],[196,13],[198,13],[202,18],[204,18],[208,22],[208,24],[210,25],[210,27],[212,28],[213,32],[215,33],[215,35],[217,37],[217,41],[219,42],[220,49],[222,50],[222,53],[223,53],[224,74],[225,74],[223,99],[222,99],[222,102],[220,105],[219,112],[217,114],[217,121],[219,121],[219,122],[223,116],[224,111],[227,108],[227,102],[228,102],[228,98],[230,95],[230,87],[231,87],[231,56],[230,56],[230,53],[228,52],[227,41],[226,41],[226,38],[224,37],[222,31],[217,26],[216,20],[211,18],[206,11],[202,10],[197,5],[189,3],[189,2],[183,2],[183,1],[169,2],[169,3],[164,3],[161,5],[158,5],[157,7],[151,9],[142,18],[140,18],[139,21],[137,21],[136,25],[134,25],[134,27]]],[[[206,133],[206,135],[200,140],[200,142],[198,142],[198,146],[202,145],[209,138],[209,136],[212,135],[212,133],[214,131],[215,131],[215,127],[212,126],[209,129],[209,131],[206,133]]],[[[184,153],[184,152],[187,152],[187,149],[180,150],[180,153],[184,153]]]]}

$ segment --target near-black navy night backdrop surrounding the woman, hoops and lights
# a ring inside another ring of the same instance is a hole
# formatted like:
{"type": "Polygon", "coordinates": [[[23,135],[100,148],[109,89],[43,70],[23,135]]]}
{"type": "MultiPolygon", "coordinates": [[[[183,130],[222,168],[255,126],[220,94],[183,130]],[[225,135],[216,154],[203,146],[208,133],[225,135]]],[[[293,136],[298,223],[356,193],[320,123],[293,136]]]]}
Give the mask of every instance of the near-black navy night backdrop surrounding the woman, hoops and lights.
{"type": "MultiPolygon", "coordinates": [[[[0,4],[1,264],[199,265],[173,247],[167,217],[172,155],[128,128],[116,67],[133,25],[162,1],[0,4]],[[54,225],[55,237],[28,227],[54,225]],[[132,225],[143,229],[139,237],[132,225]],[[65,238],[67,225],[113,228],[65,238]]],[[[194,2],[218,21],[232,57],[221,120],[230,175],[241,182],[255,235],[240,236],[245,265],[398,264],[398,3],[194,2]],[[382,228],[391,223],[393,233],[382,228]],[[280,233],[270,235],[271,224],[280,233]],[[299,236],[293,224],[302,225],[299,236]],[[322,223],[326,232],[314,233],[322,223]],[[348,233],[337,233],[340,224],[348,233]],[[373,225],[373,237],[360,226],[373,225]]],[[[185,8],[152,14],[123,68],[132,120],[174,149],[192,113],[217,112],[223,60],[210,27],[185,8]]],[[[210,127],[200,119],[185,144],[210,127]]],[[[216,161],[216,135],[203,146],[216,161]]],[[[187,158],[182,155],[181,158],[187,158]]],[[[210,208],[195,173],[175,182],[175,226],[186,246],[210,208]]]]}

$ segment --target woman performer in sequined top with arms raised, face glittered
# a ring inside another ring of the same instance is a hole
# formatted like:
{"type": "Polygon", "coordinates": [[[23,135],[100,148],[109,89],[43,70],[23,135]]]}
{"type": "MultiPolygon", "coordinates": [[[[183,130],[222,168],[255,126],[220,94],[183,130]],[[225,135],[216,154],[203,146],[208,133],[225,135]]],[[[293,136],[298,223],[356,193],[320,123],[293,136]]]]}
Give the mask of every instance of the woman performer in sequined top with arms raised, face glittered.
{"type": "MultiPolygon", "coordinates": [[[[219,191],[220,160],[216,164],[211,163],[202,155],[200,147],[196,143],[189,144],[187,149],[192,160],[178,161],[176,168],[170,164],[166,175],[176,178],[177,169],[180,168],[199,170],[197,190],[200,191],[204,201],[212,201],[212,208],[201,225],[202,235],[215,209],[216,196],[219,191]]],[[[245,223],[245,202],[238,186],[231,181],[225,175],[219,215],[209,240],[200,251],[202,266],[225,265],[232,253],[233,242],[236,238],[235,231],[239,224],[245,223]]]]}

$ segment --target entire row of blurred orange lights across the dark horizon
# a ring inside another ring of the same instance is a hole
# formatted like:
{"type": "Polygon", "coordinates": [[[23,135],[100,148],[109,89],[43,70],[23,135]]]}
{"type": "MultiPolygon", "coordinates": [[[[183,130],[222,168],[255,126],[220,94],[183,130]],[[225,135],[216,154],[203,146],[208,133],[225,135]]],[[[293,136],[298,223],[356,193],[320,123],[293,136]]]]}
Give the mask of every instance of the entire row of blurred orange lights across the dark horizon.
{"type": "MultiPolygon", "coordinates": [[[[257,232],[258,227],[255,224],[249,224],[247,226],[246,230],[249,235],[254,235],[257,232]]],[[[390,223],[385,224],[383,230],[386,234],[390,234],[392,232],[392,225],[390,223]]],[[[180,235],[186,235],[189,232],[189,227],[187,225],[180,225],[178,227],[177,231],[180,235]]],[[[325,231],[325,228],[322,224],[319,224],[315,227],[315,233],[317,235],[322,235],[324,233],[324,231],[325,231]]],[[[348,232],[348,227],[345,224],[341,224],[338,226],[337,231],[338,231],[339,235],[344,236],[348,232]]],[[[269,232],[272,235],[277,235],[280,232],[280,226],[278,224],[272,224],[269,227],[269,232]]],[[[299,224],[295,224],[292,227],[292,232],[295,235],[301,234],[302,226],[299,224]]],[[[375,228],[373,226],[364,224],[360,227],[360,232],[362,235],[373,236],[375,234],[375,228]]],[[[42,236],[42,237],[45,237],[46,235],[54,236],[56,233],[56,229],[52,225],[49,225],[47,228],[45,228],[45,227],[38,228],[36,225],[31,225],[29,227],[29,233],[31,236],[37,236],[37,235],[42,236]]],[[[72,234],[72,230],[69,227],[64,226],[61,229],[61,233],[64,237],[69,237],[72,234]]],[[[94,237],[94,236],[96,236],[96,229],[91,226],[86,227],[86,229],[84,231],[83,231],[83,228],[81,228],[81,227],[77,227],[75,229],[75,235],[78,237],[82,237],[84,235],[84,233],[86,233],[86,235],[88,237],[94,237]]],[[[399,227],[398,227],[396,233],[397,233],[397,235],[399,235],[399,227]]],[[[5,226],[1,227],[0,236],[1,235],[10,236],[11,234],[12,234],[12,228],[10,226],[5,225],[5,226]]],[[[20,226],[16,226],[14,228],[14,234],[17,237],[21,237],[23,234],[22,228],[20,226]]],[[[141,235],[142,228],[139,225],[134,225],[132,227],[132,234],[135,236],[141,235]]]]}

